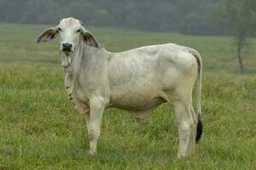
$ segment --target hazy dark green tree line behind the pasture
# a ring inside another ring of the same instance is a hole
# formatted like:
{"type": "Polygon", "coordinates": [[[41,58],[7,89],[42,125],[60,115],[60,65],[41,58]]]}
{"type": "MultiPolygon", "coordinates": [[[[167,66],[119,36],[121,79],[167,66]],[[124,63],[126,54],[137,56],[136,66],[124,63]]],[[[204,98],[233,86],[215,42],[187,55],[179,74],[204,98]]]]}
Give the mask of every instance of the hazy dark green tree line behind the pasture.
{"type": "Polygon", "coordinates": [[[222,34],[215,21],[221,0],[0,0],[0,21],[53,24],[67,16],[86,25],[147,31],[222,34]]]}

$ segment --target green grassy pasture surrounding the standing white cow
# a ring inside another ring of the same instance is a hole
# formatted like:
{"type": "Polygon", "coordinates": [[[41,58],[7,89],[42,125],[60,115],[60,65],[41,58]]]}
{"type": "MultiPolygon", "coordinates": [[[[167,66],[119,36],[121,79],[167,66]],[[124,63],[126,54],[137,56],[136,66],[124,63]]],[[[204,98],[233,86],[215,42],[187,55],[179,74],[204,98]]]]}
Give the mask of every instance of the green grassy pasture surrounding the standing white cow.
{"type": "Polygon", "coordinates": [[[0,169],[256,169],[256,39],[239,73],[229,37],[89,27],[110,51],[177,42],[204,61],[204,132],[194,156],[177,159],[172,105],[137,121],[106,111],[98,154],[87,154],[84,116],[63,88],[58,41],[35,43],[48,26],[0,24],[0,169]]]}

